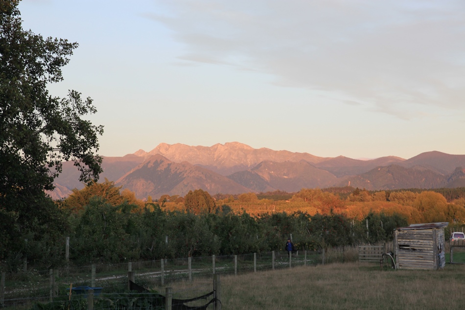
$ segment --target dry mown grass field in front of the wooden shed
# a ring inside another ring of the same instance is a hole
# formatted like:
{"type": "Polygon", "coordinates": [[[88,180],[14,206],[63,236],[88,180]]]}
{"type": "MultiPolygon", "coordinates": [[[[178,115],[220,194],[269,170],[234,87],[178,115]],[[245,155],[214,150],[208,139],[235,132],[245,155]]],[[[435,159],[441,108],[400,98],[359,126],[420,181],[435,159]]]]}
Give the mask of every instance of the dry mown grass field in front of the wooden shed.
{"type": "Polygon", "coordinates": [[[227,275],[221,277],[221,283],[224,310],[437,310],[463,309],[465,305],[465,265],[447,264],[443,270],[424,271],[336,263],[227,275]]]}

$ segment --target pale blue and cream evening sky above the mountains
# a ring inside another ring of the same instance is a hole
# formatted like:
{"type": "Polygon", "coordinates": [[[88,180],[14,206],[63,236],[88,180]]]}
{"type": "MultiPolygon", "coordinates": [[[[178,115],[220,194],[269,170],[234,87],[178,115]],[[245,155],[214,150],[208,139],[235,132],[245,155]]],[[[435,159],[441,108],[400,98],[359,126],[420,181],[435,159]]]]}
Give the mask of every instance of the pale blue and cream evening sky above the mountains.
{"type": "Polygon", "coordinates": [[[77,42],[98,154],[241,142],[312,155],[465,154],[463,0],[23,0],[77,42]]]}

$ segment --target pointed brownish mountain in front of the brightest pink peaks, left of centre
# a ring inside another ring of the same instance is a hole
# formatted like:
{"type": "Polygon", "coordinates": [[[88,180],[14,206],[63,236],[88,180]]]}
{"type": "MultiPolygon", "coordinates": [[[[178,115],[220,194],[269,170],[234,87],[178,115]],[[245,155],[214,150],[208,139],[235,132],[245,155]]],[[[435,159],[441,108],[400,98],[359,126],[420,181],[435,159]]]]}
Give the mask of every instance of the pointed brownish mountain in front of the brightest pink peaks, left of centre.
{"type": "Polygon", "coordinates": [[[189,190],[199,188],[210,194],[251,191],[208,169],[188,162],[175,163],[162,155],[153,155],[117,180],[116,185],[133,191],[138,198],[152,196],[154,199],[164,194],[184,196],[189,190]]]}

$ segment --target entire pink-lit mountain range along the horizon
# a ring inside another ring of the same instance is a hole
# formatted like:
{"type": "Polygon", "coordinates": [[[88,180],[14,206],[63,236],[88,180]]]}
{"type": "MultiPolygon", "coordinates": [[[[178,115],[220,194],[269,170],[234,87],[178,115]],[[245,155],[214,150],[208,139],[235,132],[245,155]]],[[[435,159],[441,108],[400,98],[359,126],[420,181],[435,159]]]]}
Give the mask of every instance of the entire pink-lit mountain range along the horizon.
{"type": "MultiPolygon", "coordinates": [[[[319,157],[308,153],[254,149],[239,142],[211,147],[161,143],[150,152],[122,157],[103,156],[100,178],[115,181],[143,199],[184,196],[189,190],[210,194],[240,194],[302,188],[353,186],[368,190],[465,186],[465,155],[437,151],[409,159],[386,156],[370,160],[345,156],[319,157]]],[[[81,189],[79,172],[71,162],[55,179],[52,198],[81,189]]]]}

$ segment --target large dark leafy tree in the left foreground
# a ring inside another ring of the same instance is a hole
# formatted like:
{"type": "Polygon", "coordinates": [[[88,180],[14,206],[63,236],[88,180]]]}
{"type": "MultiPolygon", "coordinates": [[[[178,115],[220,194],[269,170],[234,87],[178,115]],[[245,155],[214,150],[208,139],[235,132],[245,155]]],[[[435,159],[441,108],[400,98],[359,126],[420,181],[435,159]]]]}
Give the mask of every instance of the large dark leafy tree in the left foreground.
{"type": "Polygon", "coordinates": [[[44,191],[53,190],[62,161],[74,161],[83,182],[101,172],[103,127],[83,118],[96,112],[92,100],[74,90],[55,97],[46,88],[63,80],[77,44],[24,30],[18,4],[0,0],[0,259],[25,251],[31,229],[39,238],[54,228],[56,210],[44,191]]]}

